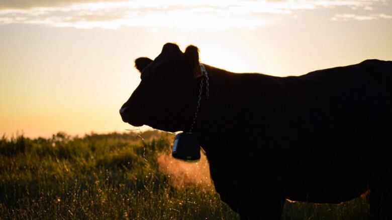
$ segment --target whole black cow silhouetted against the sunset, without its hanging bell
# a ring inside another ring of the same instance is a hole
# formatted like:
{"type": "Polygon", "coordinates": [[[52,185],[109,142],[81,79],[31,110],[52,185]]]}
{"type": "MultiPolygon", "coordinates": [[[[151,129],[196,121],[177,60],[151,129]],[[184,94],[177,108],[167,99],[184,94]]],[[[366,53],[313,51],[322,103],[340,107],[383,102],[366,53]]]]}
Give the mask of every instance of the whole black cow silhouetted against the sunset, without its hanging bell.
{"type": "Polygon", "coordinates": [[[216,191],[241,219],[280,219],[285,199],[340,203],[365,192],[374,219],[392,216],[391,61],[238,74],[200,64],[195,46],[167,43],[135,66],[141,82],[122,120],[192,126],[216,191]]]}

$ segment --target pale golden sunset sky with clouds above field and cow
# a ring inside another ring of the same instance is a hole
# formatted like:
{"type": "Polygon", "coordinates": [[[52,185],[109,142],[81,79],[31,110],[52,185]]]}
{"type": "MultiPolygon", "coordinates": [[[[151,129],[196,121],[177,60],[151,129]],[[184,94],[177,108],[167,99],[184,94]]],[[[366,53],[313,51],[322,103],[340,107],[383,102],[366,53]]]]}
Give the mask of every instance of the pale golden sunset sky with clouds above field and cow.
{"type": "Polygon", "coordinates": [[[392,0],[0,0],[0,134],[135,129],[134,60],[167,42],[273,76],[392,60],[392,0]]]}

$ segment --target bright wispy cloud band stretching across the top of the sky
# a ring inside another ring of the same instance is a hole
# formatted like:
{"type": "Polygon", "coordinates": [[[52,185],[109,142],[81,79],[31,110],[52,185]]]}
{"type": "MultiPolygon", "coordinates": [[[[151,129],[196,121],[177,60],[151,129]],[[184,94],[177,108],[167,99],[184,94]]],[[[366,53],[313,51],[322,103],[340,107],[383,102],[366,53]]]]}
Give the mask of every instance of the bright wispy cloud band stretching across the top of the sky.
{"type": "MultiPolygon", "coordinates": [[[[3,7],[0,10],[0,25],[35,24],[83,29],[117,29],[124,26],[257,28],[277,19],[292,18],[292,14],[304,11],[343,8],[376,13],[375,8],[386,5],[389,5],[386,0],[9,0],[0,4],[3,7]]],[[[388,16],[355,16],[347,13],[335,15],[331,20],[364,21],[386,19],[388,16]]]]}

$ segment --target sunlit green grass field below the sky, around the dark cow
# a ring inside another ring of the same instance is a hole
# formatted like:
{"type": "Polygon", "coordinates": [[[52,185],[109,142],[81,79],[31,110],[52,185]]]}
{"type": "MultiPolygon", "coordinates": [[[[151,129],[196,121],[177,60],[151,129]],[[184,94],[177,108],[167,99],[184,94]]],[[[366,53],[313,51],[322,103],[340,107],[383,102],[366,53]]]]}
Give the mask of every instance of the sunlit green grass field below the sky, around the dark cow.
{"type": "MultiPolygon", "coordinates": [[[[205,157],[170,157],[172,134],[0,140],[0,219],[239,219],[215,192],[205,157]]],[[[369,219],[366,197],[286,202],[282,219],[369,219]]]]}

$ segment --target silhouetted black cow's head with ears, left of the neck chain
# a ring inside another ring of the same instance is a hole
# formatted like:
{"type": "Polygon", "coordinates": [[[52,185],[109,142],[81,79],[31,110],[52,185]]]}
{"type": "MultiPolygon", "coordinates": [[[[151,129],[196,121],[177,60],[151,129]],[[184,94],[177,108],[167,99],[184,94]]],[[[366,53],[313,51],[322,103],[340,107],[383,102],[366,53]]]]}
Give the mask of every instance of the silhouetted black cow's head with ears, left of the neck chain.
{"type": "Polygon", "coordinates": [[[188,130],[195,111],[201,76],[199,51],[188,46],[184,53],[167,43],[154,60],[135,60],[141,82],[121,107],[124,122],[149,125],[165,131],[188,130]]]}

